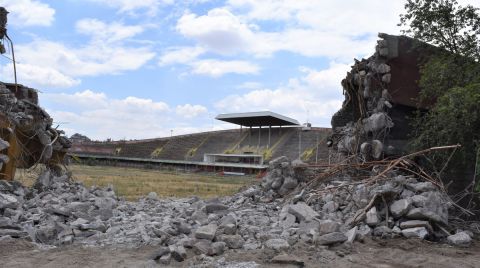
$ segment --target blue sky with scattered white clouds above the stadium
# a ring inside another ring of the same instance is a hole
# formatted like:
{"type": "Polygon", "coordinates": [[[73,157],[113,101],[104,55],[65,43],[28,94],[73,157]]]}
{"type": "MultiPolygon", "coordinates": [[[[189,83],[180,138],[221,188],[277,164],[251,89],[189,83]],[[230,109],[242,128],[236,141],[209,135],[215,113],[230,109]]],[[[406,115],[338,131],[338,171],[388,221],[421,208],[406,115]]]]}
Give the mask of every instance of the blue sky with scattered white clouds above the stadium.
{"type": "MultiPolygon", "coordinates": [[[[480,0],[463,0],[480,6],[480,0]]],[[[400,34],[404,0],[0,0],[18,82],[67,135],[142,139],[273,111],[330,127],[353,59],[400,34]]],[[[0,81],[13,81],[7,53],[0,81]]]]}

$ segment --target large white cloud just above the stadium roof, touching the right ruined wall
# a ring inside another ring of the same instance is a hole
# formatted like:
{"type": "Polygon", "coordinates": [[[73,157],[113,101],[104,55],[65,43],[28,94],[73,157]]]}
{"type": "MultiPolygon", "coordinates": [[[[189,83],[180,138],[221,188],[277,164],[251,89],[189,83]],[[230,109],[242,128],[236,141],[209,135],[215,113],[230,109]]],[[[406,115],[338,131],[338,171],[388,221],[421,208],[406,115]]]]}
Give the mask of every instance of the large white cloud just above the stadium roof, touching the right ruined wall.
{"type": "Polygon", "coordinates": [[[230,95],[218,101],[215,107],[222,113],[271,110],[328,127],[331,116],[341,107],[340,81],[348,69],[348,65],[337,63],[320,71],[302,67],[304,76],[290,79],[285,86],[230,95]]]}

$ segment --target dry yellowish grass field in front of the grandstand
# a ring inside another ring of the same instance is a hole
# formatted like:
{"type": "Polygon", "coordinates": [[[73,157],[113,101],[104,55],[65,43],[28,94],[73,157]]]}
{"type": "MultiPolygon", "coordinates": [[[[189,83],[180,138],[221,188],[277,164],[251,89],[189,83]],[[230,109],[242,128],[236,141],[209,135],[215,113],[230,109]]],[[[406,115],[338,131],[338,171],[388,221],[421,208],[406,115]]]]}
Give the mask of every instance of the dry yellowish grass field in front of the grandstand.
{"type": "MultiPolygon", "coordinates": [[[[156,192],[161,197],[225,196],[257,181],[250,176],[230,177],[109,166],[70,165],[69,169],[73,178],[86,186],[104,187],[111,184],[118,196],[128,200],[136,200],[149,192],[156,192]]],[[[38,171],[20,170],[16,179],[30,186],[36,174],[38,171]]]]}

